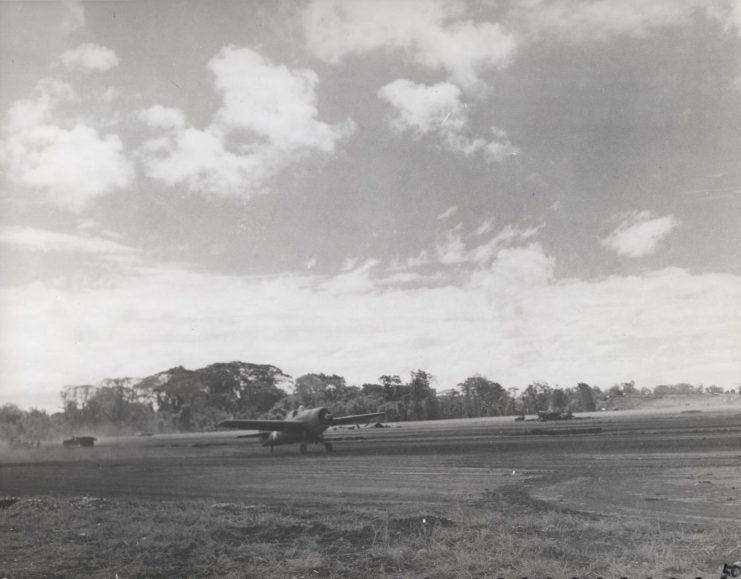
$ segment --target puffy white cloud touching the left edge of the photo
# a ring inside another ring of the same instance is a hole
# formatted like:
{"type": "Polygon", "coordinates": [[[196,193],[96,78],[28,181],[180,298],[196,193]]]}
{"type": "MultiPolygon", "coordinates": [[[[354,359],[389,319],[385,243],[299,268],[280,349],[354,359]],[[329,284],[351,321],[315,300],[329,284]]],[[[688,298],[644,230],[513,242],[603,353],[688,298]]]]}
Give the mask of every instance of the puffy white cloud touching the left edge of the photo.
{"type": "Polygon", "coordinates": [[[45,80],[37,93],[36,99],[14,103],[8,113],[0,162],[10,181],[75,212],[129,186],[133,168],[117,135],[101,135],[82,122],[62,126],[55,121],[54,107],[75,98],[72,88],[45,80]]]}

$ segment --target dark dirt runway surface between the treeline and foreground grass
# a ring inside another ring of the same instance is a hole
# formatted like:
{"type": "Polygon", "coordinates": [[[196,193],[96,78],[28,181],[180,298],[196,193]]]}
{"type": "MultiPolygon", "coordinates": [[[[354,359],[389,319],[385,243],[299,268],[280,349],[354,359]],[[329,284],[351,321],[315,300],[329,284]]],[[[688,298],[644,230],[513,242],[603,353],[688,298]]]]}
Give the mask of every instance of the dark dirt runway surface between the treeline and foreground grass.
{"type": "Polygon", "coordinates": [[[741,521],[741,414],[614,412],[329,432],[335,451],[270,456],[237,433],[104,439],[0,455],[0,495],[247,504],[472,503],[491,493],[667,521],[741,521]]]}

